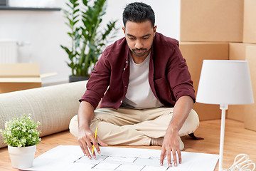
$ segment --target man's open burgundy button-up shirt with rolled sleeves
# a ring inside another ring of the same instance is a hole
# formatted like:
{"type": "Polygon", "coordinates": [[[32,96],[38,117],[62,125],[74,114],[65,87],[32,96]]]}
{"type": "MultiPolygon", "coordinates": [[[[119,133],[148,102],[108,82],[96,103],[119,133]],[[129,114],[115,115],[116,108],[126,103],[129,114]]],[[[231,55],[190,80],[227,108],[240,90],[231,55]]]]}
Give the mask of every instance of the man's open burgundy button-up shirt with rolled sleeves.
{"type": "MultiPolygon", "coordinates": [[[[80,101],[87,101],[96,108],[102,98],[100,108],[117,109],[122,105],[128,83],[129,47],[126,39],[121,38],[103,51],[80,101]]],[[[193,81],[178,41],[161,33],[156,33],[151,47],[149,85],[164,107],[174,107],[183,95],[191,96],[195,102],[193,81]]]]}

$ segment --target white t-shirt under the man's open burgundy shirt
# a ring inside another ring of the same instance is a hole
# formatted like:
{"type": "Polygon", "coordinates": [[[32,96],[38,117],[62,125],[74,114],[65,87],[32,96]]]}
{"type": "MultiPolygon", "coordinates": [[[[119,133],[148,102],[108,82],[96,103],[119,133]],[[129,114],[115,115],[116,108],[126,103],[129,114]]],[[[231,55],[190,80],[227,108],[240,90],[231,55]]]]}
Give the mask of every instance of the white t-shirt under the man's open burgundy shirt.
{"type": "Polygon", "coordinates": [[[142,63],[134,63],[129,53],[129,85],[123,105],[129,108],[159,108],[163,106],[156,99],[149,86],[150,53],[142,63]]]}

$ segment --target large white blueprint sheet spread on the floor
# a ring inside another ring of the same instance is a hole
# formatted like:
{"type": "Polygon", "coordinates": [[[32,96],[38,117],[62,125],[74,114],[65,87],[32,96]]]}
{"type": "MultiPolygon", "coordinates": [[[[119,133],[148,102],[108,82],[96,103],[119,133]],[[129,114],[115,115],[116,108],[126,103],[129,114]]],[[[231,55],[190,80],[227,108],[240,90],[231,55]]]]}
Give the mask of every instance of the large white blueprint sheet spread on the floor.
{"type": "Polygon", "coordinates": [[[100,147],[96,159],[83,155],[78,145],[59,145],[37,157],[27,170],[92,170],[92,171],[198,171],[214,170],[218,155],[198,152],[181,152],[182,162],[169,167],[167,160],[161,166],[161,150],[100,147]]]}

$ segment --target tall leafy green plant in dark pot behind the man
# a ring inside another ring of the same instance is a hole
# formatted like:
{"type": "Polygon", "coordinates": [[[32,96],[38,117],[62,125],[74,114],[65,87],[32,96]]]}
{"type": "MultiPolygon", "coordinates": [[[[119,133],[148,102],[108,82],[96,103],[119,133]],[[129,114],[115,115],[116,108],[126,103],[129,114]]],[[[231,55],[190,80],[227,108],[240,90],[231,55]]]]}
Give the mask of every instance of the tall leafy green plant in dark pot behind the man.
{"type": "Polygon", "coordinates": [[[70,82],[87,80],[97,63],[104,47],[114,38],[117,29],[117,21],[110,21],[105,29],[100,29],[102,16],[106,11],[106,0],[69,0],[66,5],[68,10],[63,9],[65,18],[68,20],[71,38],[70,46],[60,45],[68,53],[68,66],[72,70],[70,82]],[[77,80],[78,77],[79,80],[77,80]]]}

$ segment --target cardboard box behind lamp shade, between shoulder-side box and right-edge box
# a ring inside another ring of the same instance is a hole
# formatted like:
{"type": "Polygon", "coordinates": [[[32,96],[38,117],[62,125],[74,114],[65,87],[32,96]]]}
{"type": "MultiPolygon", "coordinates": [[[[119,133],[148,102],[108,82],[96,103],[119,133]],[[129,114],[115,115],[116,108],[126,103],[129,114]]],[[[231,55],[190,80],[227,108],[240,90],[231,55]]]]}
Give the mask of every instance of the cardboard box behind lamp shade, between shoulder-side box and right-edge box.
{"type": "MultiPolygon", "coordinates": [[[[229,59],[246,61],[246,47],[255,46],[256,44],[250,43],[230,43],[229,44],[229,59]]],[[[248,105],[229,105],[226,118],[238,120],[244,122],[245,120],[245,108],[248,105]]]]}

